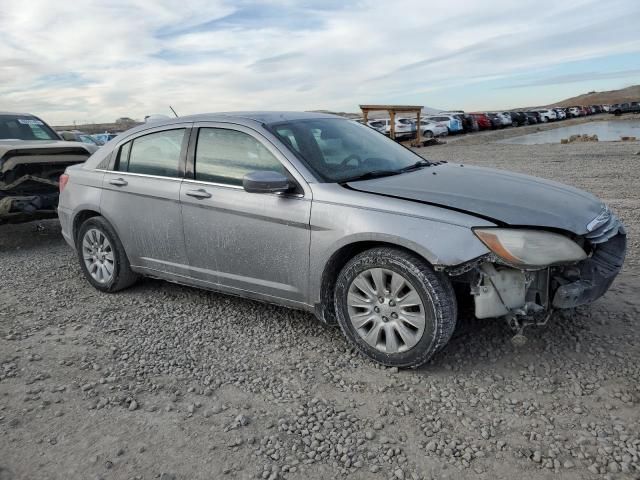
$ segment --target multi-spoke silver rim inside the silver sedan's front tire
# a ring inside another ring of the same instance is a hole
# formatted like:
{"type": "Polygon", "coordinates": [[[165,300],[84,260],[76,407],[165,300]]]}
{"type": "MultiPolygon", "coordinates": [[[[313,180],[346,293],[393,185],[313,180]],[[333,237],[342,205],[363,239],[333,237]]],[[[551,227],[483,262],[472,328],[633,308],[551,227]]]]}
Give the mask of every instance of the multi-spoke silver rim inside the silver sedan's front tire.
{"type": "Polygon", "coordinates": [[[358,274],[347,293],[349,320],[358,335],[384,353],[401,353],[422,338],[426,311],[407,278],[386,268],[358,274]]]}

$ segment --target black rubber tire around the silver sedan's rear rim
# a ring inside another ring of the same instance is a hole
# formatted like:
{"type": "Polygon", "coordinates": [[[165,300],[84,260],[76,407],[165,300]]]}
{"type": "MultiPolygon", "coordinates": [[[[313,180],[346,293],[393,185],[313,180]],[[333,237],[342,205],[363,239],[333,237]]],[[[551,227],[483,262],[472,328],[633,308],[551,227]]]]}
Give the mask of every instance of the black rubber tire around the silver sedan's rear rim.
{"type": "Polygon", "coordinates": [[[91,285],[93,285],[94,288],[101,292],[117,292],[130,287],[138,279],[138,275],[131,270],[129,259],[127,258],[127,254],[124,251],[124,247],[122,246],[118,235],[116,235],[115,230],[104,217],[91,217],[80,226],[78,236],[76,237],[76,252],[78,254],[78,261],[80,262],[80,268],[82,269],[85,278],[91,285]],[[113,247],[113,275],[111,279],[105,283],[96,281],[89,273],[87,265],[84,262],[82,241],[86,232],[90,229],[100,231],[109,240],[109,243],[113,247]]]}

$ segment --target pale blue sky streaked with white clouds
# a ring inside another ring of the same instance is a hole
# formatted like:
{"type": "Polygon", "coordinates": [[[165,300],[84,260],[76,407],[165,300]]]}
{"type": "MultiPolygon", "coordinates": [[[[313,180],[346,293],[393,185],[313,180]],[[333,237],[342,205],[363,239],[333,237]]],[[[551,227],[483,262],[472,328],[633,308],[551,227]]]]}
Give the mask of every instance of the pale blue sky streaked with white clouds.
{"type": "Polygon", "coordinates": [[[640,52],[640,3],[624,0],[0,3],[2,108],[52,123],[169,104],[180,114],[440,105],[439,92],[490,82],[568,83],[579,73],[554,69],[589,59],[595,79],[638,74],[606,71],[607,58],[640,52]]]}

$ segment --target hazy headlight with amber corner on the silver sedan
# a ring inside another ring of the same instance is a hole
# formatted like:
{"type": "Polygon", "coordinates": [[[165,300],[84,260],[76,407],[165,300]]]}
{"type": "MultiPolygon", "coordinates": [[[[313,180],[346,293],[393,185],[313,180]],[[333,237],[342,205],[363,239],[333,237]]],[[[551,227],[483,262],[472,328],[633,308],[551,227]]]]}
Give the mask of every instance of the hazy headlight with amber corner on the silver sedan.
{"type": "Polygon", "coordinates": [[[489,250],[512,265],[547,267],[587,258],[578,244],[558,233],[509,228],[477,228],[473,232],[489,250]]]}

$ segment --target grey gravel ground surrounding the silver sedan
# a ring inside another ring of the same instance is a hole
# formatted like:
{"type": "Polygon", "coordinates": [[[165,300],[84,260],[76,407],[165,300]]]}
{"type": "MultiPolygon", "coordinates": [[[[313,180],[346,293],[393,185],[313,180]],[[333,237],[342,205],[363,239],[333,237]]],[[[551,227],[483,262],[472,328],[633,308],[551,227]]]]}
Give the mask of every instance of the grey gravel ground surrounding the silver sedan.
{"type": "Polygon", "coordinates": [[[55,221],[0,227],[0,479],[640,478],[640,145],[490,143],[508,134],[420,152],[594,192],[628,226],[625,271],[523,347],[478,322],[418,370],[305,313],[100,294],[55,221]]]}

